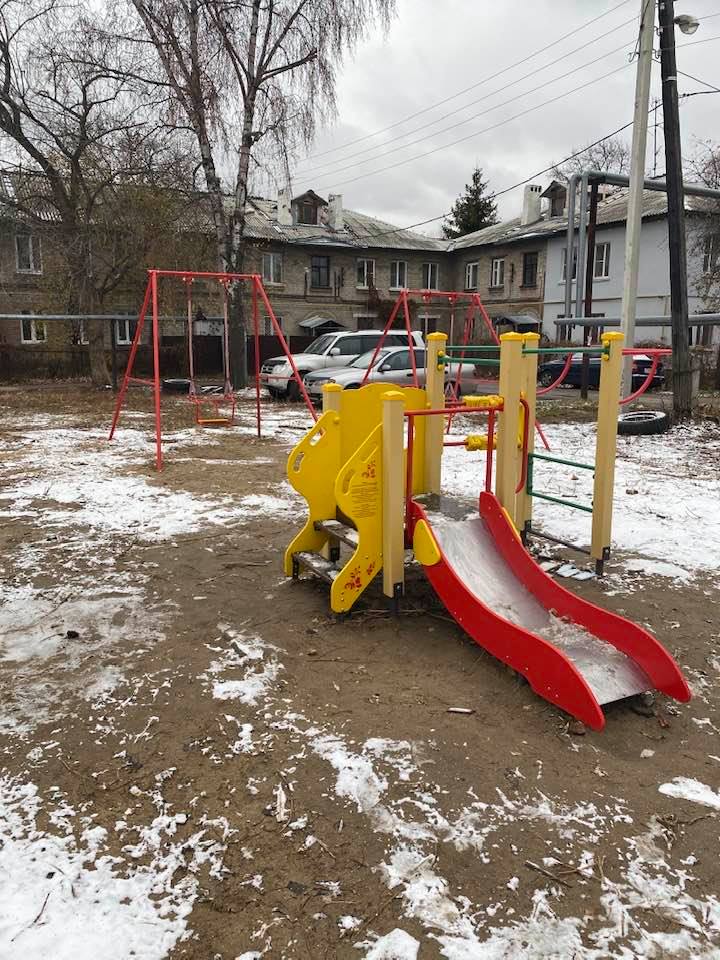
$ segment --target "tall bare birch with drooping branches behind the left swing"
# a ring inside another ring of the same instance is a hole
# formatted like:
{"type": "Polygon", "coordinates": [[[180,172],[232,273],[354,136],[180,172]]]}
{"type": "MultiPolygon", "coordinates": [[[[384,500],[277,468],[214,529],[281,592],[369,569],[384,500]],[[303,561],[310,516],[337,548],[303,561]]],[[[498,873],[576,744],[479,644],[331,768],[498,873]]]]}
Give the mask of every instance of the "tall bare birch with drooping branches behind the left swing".
{"type": "MultiPolygon", "coordinates": [[[[251,164],[287,158],[335,110],[336,71],[395,0],[128,0],[128,37],[148,41],[168,119],[193,132],[220,270],[242,272],[251,164]],[[221,169],[232,156],[227,189],[221,169]]],[[[233,380],[245,383],[242,301],[233,294],[233,380]]]]}

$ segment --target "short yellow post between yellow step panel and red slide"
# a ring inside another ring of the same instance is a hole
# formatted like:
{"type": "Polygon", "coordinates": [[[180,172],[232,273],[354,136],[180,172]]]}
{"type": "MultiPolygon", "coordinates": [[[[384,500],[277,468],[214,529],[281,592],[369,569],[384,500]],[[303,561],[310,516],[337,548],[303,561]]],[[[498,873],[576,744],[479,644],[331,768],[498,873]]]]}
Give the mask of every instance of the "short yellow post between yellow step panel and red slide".
{"type": "Polygon", "coordinates": [[[391,390],[383,394],[382,408],[383,593],[397,603],[405,584],[405,398],[391,390]]]}

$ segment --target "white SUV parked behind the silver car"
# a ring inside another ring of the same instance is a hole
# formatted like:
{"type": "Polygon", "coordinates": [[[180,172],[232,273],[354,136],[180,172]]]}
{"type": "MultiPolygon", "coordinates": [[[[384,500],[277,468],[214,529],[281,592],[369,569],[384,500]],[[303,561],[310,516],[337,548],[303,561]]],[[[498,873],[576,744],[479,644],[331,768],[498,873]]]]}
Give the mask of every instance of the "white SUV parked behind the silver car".
{"type": "MultiPolygon", "coordinates": [[[[293,361],[301,377],[325,367],[346,367],[356,357],[377,347],[382,330],[338,330],[324,333],[314,340],[303,353],[294,353],[293,361]]],[[[422,333],[414,332],[413,340],[423,346],[422,333]]],[[[393,330],[385,337],[383,346],[407,348],[407,333],[393,330]]],[[[271,397],[297,400],[300,390],[293,379],[292,367],[286,357],[271,357],[262,365],[263,381],[271,397]]]]}

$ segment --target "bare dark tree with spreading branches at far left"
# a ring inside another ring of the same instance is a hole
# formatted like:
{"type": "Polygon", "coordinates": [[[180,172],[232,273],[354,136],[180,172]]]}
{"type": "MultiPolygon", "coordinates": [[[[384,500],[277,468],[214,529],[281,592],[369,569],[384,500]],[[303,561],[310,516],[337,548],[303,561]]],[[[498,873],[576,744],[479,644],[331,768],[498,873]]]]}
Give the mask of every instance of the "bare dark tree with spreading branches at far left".
{"type": "MultiPolygon", "coordinates": [[[[16,217],[48,240],[69,313],[103,301],[167,229],[178,179],[167,133],[148,121],[127,48],[100,36],[90,11],[56,0],[0,0],[0,145],[16,217]]],[[[185,206],[185,203],[182,204],[185,206]]],[[[177,214],[175,214],[177,215],[177,214]]],[[[53,287],[54,285],[54,287],[53,287]]],[[[93,382],[109,380],[103,321],[86,325],[93,382]]]]}

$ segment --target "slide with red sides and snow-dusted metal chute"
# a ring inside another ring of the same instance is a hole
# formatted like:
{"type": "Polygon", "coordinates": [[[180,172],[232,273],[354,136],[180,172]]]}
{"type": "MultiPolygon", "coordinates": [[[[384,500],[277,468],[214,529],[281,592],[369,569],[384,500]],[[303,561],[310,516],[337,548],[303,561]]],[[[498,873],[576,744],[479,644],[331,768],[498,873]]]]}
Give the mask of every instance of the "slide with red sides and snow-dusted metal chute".
{"type": "Polygon", "coordinates": [[[442,499],[415,505],[441,553],[426,574],[480,646],[596,729],[602,704],[633,694],[657,688],[689,699],[651,634],[561,587],[527,553],[495,497],[482,494],[480,504],[481,515],[465,517],[442,499]]]}

